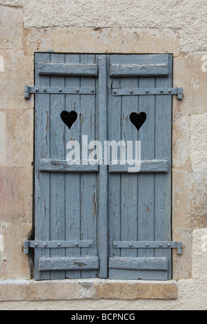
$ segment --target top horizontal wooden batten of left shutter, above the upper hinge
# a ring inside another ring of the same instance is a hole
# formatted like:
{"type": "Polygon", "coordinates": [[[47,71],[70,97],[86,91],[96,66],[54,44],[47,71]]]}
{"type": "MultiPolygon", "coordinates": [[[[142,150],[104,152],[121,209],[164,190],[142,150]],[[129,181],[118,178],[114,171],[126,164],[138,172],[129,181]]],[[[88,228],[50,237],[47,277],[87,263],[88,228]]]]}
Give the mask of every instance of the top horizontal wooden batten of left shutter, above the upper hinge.
{"type": "Polygon", "coordinates": [[[97,64],[39,63],[39,75],[97,77],[97,64]]]}

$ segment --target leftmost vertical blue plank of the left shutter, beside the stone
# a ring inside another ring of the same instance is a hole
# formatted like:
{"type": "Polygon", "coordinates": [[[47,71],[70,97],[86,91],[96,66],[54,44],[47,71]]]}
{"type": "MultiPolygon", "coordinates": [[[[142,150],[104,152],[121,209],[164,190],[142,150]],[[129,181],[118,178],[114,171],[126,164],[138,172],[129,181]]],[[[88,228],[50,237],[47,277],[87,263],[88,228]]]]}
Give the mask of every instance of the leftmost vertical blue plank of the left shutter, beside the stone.
{"type": "MultiPolygon", "coordinates": [[[[50,54],[35,54],[35,85],[50,86],[50,77],[39,77],[39,62],[50,62],[50,54]]],[[[50,94],[35,95],[35,240],[50,240],[50,174],[39,172],[39,160],[50,158],[50,94]]],[[[35,249],[34,279],[48,280],[50,272],[39,272],[39,258],[50,250],[35,249]]]]}

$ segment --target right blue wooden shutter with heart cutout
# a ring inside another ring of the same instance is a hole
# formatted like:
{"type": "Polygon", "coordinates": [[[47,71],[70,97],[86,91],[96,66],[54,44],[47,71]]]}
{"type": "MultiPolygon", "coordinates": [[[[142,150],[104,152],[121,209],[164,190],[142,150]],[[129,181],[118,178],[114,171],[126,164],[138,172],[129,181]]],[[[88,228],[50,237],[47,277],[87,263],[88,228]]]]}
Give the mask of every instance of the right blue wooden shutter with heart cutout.
{"type": "Polygon", "coordinates": [[[160,247],[171,240],[172,97],[162,88],[172,88],[172,56],[111,56],[110,77],[109,140],[141,141],[141,160],[154,169],[144,163],[137,174],[110,168],[109,278],[171,279],[171,250],[160,247]],[[139,95],[153,89],[157,95],[139,95]],[[141,112],[146,122],[138,132],[130,114],[141,112]]]}

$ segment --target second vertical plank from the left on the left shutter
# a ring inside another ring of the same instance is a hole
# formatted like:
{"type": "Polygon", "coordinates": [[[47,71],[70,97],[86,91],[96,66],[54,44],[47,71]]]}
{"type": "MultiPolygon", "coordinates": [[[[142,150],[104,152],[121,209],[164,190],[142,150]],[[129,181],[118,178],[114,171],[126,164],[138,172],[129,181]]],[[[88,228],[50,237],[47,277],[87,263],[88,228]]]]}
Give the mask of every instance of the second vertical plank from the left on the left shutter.
{"type": "MultiPolygon", "coordinates": [[[[64,63],[64,54],[51,54],[51,63],[64,63]]],[[[64,87],[65,77],[51,77],[50,86],[64,87]]],[[[61,112],[65,110],[65,96],[51,94],[50,98],[50,159],[65,159],[65,124],[61,112]]],[[[50,174],[50,239],[65,240],[65,174],[50,174]]],[[[65,256],[65,249],[51,249],[50,256],[65,256]]],[[[64,279],[64,271],[52,271],[51,279],[64,279]]]]}

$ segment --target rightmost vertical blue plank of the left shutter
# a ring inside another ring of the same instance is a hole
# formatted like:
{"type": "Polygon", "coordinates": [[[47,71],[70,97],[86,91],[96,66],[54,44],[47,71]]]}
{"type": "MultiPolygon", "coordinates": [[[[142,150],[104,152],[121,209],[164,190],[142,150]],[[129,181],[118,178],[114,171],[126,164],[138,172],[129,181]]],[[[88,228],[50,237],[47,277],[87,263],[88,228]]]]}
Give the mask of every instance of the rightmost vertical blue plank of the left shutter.
{"type": "MultiPolygon", "coordinates": [[[[81,55],[81,63],[95,63],[95,55],[81,55]]],[[[81,87],[95,87],[95,78],[81,78],[81,87]]],[[[88,136],[88,143],[96,138],[96,105],[94,95],[81,95],[81,136],[88,136]]],[[[82,156],[81,156],[82,157],[82,156]]],[[[81,239],[97,241],[97,174],[81,174],[81,239]]],[[[81,249],[81,256],[97,256],[97,246],[81,249]]],[[[81,278],[95,278],[97,270],[81,271],[81,278]]]]}

